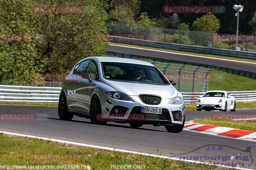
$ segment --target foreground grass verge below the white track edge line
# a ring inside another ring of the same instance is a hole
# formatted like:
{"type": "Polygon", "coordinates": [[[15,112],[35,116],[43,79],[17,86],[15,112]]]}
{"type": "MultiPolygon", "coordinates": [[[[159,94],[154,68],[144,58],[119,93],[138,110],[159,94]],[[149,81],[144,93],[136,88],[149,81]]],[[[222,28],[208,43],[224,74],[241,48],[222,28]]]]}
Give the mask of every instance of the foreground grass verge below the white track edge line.
{"type": "MultiPolygon", "coordinates": [[[[93,149],[70,144],[60,144],[35,138],[14,137],[0,134],[1,165],[27,165],[27,166],[58,166],[58,165],[89,165],[90,169],[110,169],[112,165],[145,165],[145,169],[188,169],[183,167],[183,161],[168,160],[164,168],[162,158],[149,157],[138,154],[112,152],[93,149]],[[73,159],[45,159],[40,156],[72,155],[73,159]],[[36,160],[33,158],[43,158],[36,160]]],[[[54,169],[57,169],[56,167],[54,169]]],[[[69,168],[71,169],[71,168],[69,168]]],[[[74,168],[75,169],[75,168],[74,168]]],[[[78,168],[77,168],[78,169],[78,168]]],[[[81,168],[80,168],[81,169],[81,168]]],[[[113,169],[113,168],[112,168],[113,169]]],[[[212,167],[189,167],[189,169],[216,169],[212,167]]],[[[227,169],[227,168],[226,168],[227,169]]]]}

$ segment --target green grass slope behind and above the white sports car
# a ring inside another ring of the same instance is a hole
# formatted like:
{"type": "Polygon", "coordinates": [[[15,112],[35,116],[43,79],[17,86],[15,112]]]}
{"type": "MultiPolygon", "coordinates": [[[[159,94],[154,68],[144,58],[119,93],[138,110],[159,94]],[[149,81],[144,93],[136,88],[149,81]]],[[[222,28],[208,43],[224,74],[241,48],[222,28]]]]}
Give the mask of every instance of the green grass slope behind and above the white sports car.
{"type": "MultiPolygon", "coordinates": [[[[256,68],[256,67],[255,67],[256,68]]],[[[246,91],[256,90],[256,80],[240,75],[212,70],[208,90],[246,91]]]]}

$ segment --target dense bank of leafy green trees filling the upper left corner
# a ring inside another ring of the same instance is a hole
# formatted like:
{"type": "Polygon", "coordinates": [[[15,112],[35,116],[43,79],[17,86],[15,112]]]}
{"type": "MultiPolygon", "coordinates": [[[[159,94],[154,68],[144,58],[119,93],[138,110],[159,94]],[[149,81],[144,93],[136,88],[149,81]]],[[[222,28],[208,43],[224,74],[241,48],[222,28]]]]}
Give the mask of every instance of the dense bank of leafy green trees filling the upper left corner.
{"type": "Polygon", "coordinates": [[[77,0],[74,5],[72,1],[16,0],[2,1],[0,6],[2,34],[33,35],[29,42],[0,43],[0,81],[32,84],[34,73],[67,73],[77,61],[108,49],[99,39],[107,33],[101,1],[77,0]],[[33,12],[35,6],[81,6],[84,11],[38,14],[33,12]]]}

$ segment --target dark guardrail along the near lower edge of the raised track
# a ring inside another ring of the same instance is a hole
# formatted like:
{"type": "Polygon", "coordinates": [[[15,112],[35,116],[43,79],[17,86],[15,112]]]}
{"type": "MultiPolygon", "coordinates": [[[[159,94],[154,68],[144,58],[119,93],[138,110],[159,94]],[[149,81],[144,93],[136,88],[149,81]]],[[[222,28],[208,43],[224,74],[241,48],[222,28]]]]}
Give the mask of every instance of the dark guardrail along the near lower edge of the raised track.
{"type": "Polygon", "coordinates": [[[184,62],[184,61],[176,61],[176,60],[148,57],[148,56],[142,56],[142,55],[124,54],[124,53],[117,53],[117,52],[112,52],[112,51],[108,51],[107,54],[115,55],[118,57],[125,57],[125,58],[145,58],[145,59],[152,59],[154,61],[160,61],[160,62],[166,62],[166,63],[181,63],[181,64],[190,64],[190,65],[198,66],[198,67],[214,68],[216,70],[226,71],[228,73],[256,79],[256,73],[244,71],[244,70],[230,69],[227,67],[220,67],[220,66],[208,65],[208,64],[191,63],[191,62],[184,62]]]}

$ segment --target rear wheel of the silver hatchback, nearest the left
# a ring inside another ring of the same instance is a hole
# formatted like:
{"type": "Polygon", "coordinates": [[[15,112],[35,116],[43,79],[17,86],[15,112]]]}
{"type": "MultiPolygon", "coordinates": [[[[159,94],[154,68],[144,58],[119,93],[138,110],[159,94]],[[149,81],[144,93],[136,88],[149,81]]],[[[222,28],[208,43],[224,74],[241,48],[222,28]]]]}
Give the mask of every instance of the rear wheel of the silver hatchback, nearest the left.
{"type": "Polygon", "coordinates": [[[67,99],[64,92],[60,94],[59,104],[58,104],[58,115],[60,120],[66,120],[66,121],[70,121],[74,117],[73,114],[68,113],[68,104],[67,104],[67,99]]]}

